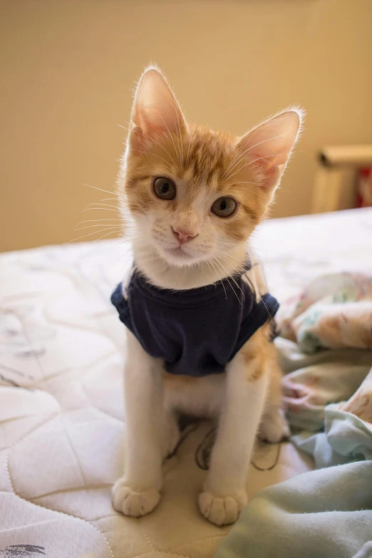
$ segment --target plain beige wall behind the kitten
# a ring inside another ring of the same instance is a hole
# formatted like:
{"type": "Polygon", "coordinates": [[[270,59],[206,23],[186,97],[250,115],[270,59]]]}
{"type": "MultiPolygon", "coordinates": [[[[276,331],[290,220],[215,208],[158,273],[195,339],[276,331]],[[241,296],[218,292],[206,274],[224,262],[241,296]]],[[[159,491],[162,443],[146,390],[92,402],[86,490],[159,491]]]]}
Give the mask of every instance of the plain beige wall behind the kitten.
{"type": "Polygon", "coordinates": [[[128,120],[130,86],[149,61],[164,69],[188,118],[215,128],[242,133],[290,103],[308,110],[274,216],[309,211],[322,145],[371,142],[371,0],[0,7],[0,250],[78,237],[80,211],[108,196],[82,183],[113,189],[118,124],[128,120]]]}

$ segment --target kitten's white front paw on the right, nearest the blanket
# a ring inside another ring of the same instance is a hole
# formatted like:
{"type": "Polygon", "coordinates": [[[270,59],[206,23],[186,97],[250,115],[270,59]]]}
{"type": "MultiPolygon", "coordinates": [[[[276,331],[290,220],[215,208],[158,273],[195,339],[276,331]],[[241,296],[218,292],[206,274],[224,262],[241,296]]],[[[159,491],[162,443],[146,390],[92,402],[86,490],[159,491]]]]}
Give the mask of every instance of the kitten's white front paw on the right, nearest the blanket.
{"type": "Polygon", "coordinates": [[[245,493],[218,496],[212,492],[201,492],[199,495],[199,507],[202,515],[206,520],[219,526],[236,522],[246,504],[245,493]]]}

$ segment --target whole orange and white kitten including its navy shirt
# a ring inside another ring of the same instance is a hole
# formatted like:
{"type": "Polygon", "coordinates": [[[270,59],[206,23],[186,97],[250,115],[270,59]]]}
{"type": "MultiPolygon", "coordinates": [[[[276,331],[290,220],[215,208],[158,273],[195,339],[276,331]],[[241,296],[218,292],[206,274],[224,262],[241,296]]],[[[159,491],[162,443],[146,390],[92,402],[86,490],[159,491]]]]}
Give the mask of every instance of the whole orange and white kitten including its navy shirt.
{"type": "Polygon", "coordinates": [[[289,108],[234,138],[186,123],[157,68],[140,79],[118,192],[123,219],[133,221],[134,267],[112,296],[128,328],[128,447],[113,487],[125,515],[159,502],[178,412],[219,418],[199,497],[216,525],[235,522],[247,503],[257,431],[271,442],[289,435],[270,339],[278,304],[258,294],[265,291],[247,240],[267,213],[301,118],[289,108]]]}

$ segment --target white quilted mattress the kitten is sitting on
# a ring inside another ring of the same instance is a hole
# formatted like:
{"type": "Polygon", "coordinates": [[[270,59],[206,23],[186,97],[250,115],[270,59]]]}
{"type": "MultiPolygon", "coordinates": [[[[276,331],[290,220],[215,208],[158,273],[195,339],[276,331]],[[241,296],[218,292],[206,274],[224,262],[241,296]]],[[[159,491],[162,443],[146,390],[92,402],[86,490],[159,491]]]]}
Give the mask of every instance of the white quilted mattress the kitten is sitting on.
{"type": "MultiPolygon", "coordinates": [[[[272,220],[257,234],[272,293],[316,274],[371,268],[372,211],[272,220]]],[[[0,255],[0,557],[212,558],[229,527],[197,510],[211,445],[188,425],[165,463],[152,515],[119,515],[123,324],[110,292],[128,265],[118,242],[0,255]]],[[[311,468],[290,443],[258,444],[247,476],[262,487],[311,468]]]]}

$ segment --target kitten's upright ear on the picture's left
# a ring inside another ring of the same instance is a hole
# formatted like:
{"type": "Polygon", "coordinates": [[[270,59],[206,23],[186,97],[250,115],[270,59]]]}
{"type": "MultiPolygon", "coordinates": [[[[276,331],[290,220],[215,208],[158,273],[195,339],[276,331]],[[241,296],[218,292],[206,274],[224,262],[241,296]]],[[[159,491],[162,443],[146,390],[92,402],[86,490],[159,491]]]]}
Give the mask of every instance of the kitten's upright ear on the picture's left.
{"type": "Polygon", "coordinates": [[[157,68],[148,68],[138,83],[130,123],[130,145],[140,148],[157,135],[182,134],[187,128],[174,93],[157,68]]]}

